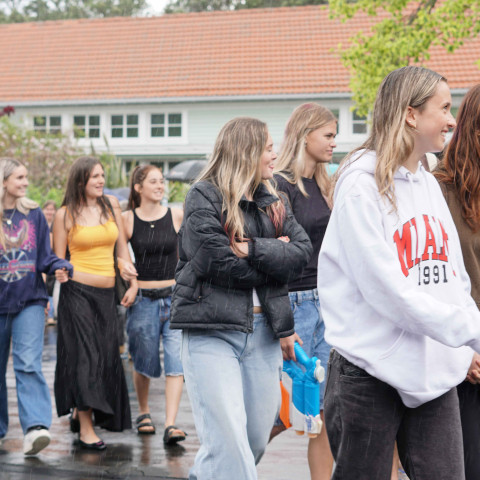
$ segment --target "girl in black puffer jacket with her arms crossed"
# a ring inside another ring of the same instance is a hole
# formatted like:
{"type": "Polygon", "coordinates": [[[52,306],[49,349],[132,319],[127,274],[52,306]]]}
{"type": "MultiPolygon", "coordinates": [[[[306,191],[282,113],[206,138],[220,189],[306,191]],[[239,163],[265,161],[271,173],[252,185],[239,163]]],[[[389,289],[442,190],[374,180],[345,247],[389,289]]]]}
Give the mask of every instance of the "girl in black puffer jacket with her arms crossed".
{"type": "Polygon", "coordinates": [[[296,338],[288,282],[312,253],[270,180],[265,123],[235,118],[185,200],[172,328],[201,442],[191,479],[253,480],[296,338]]]}

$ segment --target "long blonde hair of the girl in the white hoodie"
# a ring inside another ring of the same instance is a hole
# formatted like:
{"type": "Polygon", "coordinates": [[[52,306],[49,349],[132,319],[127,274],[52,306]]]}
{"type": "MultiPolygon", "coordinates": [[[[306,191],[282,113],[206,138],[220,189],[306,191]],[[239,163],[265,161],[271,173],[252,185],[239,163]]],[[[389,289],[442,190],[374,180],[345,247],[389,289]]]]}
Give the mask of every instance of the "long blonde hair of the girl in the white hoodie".
{"type": "Polygon", "coordinates": [[[390,72],[377,92],[368,139],[344,160],[348,165],[355,152],[362,149],[375,151],[378,191],[390,201],[394,210],[397,205],[393,177],[412,154],[415,145],[415,128],[406,122],[408,107],[421,112],[435,95],[438,84],[446,81],[442,75],[423,67],[402,67],[390,72]]]}

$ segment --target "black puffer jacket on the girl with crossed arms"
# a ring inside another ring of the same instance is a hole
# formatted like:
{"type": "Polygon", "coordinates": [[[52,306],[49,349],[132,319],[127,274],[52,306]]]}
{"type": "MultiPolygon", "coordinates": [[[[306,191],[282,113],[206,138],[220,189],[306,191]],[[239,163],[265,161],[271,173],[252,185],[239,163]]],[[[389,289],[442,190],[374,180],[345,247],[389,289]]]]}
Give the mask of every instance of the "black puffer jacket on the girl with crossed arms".
{"type": "Polygon", "coordinates": [[[255,287],[276,337],[294,333],[287,284],[308,262],[312,246],[286,200],[281,236],[288,236],[290,243],[275,238],[265,208],[277,200],[261,184],[253,201],[241,201],[245,236],[251,242],[248,257],[239,258],[232,252],[223,226],[220,192],[209,182],[192,186],[179,232],[171,328],[252,332],[255,287]]]}

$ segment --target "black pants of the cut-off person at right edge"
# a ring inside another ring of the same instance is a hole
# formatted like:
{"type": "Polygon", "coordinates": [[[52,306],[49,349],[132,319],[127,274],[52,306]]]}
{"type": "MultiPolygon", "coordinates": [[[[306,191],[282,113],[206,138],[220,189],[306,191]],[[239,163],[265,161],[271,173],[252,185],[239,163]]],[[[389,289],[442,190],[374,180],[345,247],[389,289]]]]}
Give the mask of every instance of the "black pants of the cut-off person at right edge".
{"type": "Polygon", "coordinates": [[[480,480],[480,385],[463,382],[457,387],[462,419],[466,480],[480,480]]]}

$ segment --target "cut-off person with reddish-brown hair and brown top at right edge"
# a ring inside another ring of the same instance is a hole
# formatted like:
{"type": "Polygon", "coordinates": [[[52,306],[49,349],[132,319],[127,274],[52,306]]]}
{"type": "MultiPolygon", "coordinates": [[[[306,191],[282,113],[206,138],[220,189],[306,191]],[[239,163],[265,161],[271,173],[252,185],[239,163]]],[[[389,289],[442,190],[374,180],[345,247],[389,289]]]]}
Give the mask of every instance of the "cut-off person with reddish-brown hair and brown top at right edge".
{"type": "MultiPolygon", "coordinates": [[[[443,161],[434,172],[457,227],[472,297],[480,308],[480,85],[465,95],[443,161]]],[[[457,387],[466,480],[480,478],[480,386],[467,377],[457,387]]]]}

